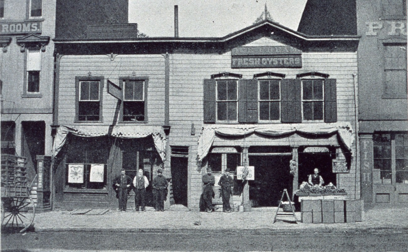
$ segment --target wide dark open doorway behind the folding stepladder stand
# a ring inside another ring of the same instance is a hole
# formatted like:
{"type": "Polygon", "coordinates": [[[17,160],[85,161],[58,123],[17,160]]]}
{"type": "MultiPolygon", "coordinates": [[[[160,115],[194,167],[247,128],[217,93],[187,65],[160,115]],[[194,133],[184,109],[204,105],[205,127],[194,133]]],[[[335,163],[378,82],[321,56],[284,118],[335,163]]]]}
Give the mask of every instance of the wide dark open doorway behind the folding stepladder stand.
{"type": "Polygon", "coordinates": [[[249,165],[255,166],[255,180],[249,181],[249,199],[253,207],[278,206],[284,189],[292,194],[291,158],[288,155],[249,156],[249,165]]]}

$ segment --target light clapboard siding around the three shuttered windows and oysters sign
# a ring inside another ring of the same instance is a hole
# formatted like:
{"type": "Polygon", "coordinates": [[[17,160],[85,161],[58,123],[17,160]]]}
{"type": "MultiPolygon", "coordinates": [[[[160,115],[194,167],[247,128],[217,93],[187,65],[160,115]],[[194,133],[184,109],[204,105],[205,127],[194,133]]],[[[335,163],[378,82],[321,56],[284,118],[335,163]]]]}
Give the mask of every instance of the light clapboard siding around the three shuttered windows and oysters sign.
{"type": "MultiPolygon", "coordinates": [[[[248,46],[282,45],[272,40],[261,39],[247,44],[248,46]]],[[[189,161],[190,170],[190,208],[198,208],[202,192],[202,167],[197,164],[197,140],[203,126],[203,81],[212,74],[232,72],[251,79],[256,73],[272,71],[286,74],[286,78],[295,78],[299,73],[310,71],[327,73],[337,80],[337,121],[350,122],[354,125],[354,82],[353,73],[357,73],[357,53],[302,53],[301,69],[231,69],[231,53],[222,55],[173,54],[170,55],[170,143],[172,145],[190,146],[192,153],[189,161]],[[194,124],[195,135],[191,135],[191,124],[194,124]],[[199,181],[199,182],[197,182],[199,181]]],[[[304,139],[297,135],[283,139],[267,139],[251,135],[245,139],[247,145],[337,145],[334,135],[328,139],[304,139]]],[[[225,141],[216,137],[215,146],[242,145],[243,140],[225,141]]],[[[355,146],[353,146],[355,153],[355,146]]],[[[340,175],[340,184],[346,188],[349,197],[355,194],[355,163],[348,174],[340,175]],[[343,186],[344,185],[344,186],[343,186]]]]}

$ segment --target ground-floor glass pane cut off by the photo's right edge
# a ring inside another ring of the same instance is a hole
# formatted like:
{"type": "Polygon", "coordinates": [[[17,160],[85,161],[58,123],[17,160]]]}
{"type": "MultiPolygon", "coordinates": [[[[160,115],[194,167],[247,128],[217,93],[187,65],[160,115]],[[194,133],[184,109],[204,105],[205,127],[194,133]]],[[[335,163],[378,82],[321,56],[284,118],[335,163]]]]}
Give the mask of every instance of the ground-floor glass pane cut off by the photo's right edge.
{"type": "Polygon", "coordinates": [[[395,135],[396,182],[408,184],[408,134],[395,135]]]}

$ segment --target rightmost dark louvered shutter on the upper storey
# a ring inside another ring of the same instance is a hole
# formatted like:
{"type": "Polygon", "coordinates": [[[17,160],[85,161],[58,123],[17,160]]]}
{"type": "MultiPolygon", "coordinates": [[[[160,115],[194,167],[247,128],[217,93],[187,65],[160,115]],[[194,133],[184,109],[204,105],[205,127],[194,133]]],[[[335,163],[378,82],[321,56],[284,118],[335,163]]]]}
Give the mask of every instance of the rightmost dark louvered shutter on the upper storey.
{"type": "Polygon", "coordinates": [[[324,122],[337,122],[336,79],[324,82],[324,122]]]}

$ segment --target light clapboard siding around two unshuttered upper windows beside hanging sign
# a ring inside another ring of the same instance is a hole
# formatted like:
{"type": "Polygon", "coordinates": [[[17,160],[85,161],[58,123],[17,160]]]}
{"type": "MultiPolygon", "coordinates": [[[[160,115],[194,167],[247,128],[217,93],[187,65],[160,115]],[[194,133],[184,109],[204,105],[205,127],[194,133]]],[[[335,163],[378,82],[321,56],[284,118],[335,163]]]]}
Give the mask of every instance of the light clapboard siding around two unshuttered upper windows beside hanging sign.
{"type": "MultiPolygon", "coordinates": [[[[107,55],[64,55],[60,62],[59,124],[74,124],[75,77],[104,76],[102,96],[102,124],[113,122],[117,99],[107,93],[107,80],[119,84],[120,77],[149,77],[147,117],[149,124],[164,124],[164,57],[162,55],[117,55],[111,61],[107,55]]],[[[80,123],[83,124],[83,123],[80,123]]],[[[88,124],[88,123],[85,123],[88,124]]]]}

